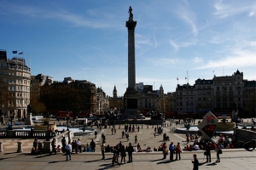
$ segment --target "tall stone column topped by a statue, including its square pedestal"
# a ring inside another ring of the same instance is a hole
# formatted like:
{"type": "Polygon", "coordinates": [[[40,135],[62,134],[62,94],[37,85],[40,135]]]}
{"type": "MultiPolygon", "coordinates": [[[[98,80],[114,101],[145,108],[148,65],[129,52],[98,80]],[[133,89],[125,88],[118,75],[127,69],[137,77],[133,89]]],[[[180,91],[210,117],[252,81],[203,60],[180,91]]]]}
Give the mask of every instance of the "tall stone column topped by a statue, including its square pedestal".
{"type": "Polygon", "coordinates": [[[129,20],[126,21],[128,29],[128,88],[124,94],[125,115],[135,116],[138,111],[139,93],[136,89],[136,71],[135,71],[135,38],[134,31],[137,21],[133,20],[132,8],[129,8],[129,20]]]}

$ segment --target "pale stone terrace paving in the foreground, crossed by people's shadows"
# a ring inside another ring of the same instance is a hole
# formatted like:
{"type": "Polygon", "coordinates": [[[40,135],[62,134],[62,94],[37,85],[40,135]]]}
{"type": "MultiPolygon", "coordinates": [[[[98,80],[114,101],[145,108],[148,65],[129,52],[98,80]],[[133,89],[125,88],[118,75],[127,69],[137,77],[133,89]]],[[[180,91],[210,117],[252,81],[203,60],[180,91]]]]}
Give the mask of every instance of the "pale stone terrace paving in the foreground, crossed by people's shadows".
{"type": "MultiPolygon", "coordinates": [[[[57,155],[39,155],[30,156],[25,153],[0,153],[0,170],[17,169],[193,169],[191,160],[193,154],[197,153],[200,167],[199,169],[255,169],[256,167],[256,151],[232,151],[224,152],[220,155],[221,162],[215,163],[216,155],[212,153],[212,162],[207,163],[203,154],[192,151],[181,154],[180,161],[163,160],[161,154],[148,153],[147,156],[137,153],[133,154],[133,162],[124,165],[111,167],[112,154],[106,156],[106,160],[101,160],[102,156],[94,153],[73,154],[71,161],[66,161],[66,156],[59,153],[57,155]]],[[[126,156],[126,159],[128,157],[126,156]]],[[[120,159],[120,158],[119,158],[120,159]]]]}

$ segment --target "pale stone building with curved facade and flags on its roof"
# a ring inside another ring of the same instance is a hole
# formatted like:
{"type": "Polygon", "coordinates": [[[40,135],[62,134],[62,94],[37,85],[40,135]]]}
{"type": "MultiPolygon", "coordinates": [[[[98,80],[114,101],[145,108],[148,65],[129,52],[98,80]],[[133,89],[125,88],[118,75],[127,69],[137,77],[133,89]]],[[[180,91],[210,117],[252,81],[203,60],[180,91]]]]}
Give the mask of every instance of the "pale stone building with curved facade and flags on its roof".
{"type": "Polygon", "coordinates": [[[2,86],[7,86],[0,105],[4,116],[26,117],[27,105],[30,104],[30,75],[25,59],[16,56],[8,59],[7,52],[0,50],[0,79],[2,86]]]}

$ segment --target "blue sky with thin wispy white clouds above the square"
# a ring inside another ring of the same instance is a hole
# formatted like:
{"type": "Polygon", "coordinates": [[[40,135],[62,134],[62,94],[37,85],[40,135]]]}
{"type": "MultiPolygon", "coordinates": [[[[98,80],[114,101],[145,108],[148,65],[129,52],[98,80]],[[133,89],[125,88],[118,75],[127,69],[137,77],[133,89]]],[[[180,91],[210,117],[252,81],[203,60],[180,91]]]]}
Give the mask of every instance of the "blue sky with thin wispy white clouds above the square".
{"type": "Polygon", "coordinates": [[[32,75],[88,80],[113,95],[128,86],[128,8],[136,82],[174,92],[178,83],[230,76],[256,80],[256,1],[1,0],[0,48],[24,52],[32,75]]]}

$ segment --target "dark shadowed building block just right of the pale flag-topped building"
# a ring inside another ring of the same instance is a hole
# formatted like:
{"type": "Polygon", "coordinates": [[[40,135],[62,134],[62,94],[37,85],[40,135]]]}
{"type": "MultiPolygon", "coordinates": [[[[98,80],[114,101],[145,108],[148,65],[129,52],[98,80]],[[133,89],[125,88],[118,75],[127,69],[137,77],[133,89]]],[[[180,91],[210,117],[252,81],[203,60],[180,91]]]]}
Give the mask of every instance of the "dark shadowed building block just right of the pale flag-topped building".
{"type": "Polygon", "coordinates": [[[49,111],[103,111],[108,98],[101,88],[86,80],[64,78],[63,82],[45,84],[41,99],[49,111]]]}

